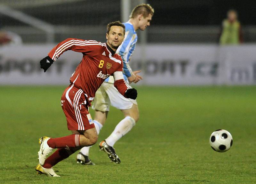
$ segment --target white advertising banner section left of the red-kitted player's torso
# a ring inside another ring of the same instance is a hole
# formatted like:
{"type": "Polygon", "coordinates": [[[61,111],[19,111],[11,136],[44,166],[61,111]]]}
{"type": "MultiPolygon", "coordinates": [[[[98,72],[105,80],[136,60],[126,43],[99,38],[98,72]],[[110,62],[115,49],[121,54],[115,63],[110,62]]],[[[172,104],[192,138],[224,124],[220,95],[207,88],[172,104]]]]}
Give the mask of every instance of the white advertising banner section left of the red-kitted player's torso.
{"type": "Polygon", "coordinates": [[[0,84],[69,84],[82,53],[67,51],[44,73],[40,60],[55,45],[23,45],[0,48],[0,84]]]}

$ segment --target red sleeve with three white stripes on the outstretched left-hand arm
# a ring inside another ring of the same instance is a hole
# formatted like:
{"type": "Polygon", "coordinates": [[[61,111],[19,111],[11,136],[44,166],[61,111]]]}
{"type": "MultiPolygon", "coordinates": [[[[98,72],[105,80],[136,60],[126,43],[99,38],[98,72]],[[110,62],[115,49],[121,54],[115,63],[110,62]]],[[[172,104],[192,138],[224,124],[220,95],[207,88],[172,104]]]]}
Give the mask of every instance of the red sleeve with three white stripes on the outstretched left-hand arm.
{"type": "Polygon", "coordinates": [[[52,58],[53,61],[56,61],[60,55],[68,50],[75,52],[90,52],[92,47],[90,45],[102,45],[100,42],[95,40],[82,40],[75,38],[68,38],[59,44],[57,44],[49,53],[48,56],[52,58]]]}

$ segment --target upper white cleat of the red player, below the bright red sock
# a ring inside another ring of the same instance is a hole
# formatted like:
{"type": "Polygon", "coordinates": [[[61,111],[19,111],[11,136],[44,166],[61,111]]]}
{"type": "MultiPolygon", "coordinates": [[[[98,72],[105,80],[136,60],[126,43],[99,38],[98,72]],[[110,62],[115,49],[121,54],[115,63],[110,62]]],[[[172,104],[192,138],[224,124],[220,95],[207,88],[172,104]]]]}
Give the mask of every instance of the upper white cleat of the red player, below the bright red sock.
{"type": "Polygon", "coordinates": [[[38,151],[38,161],[40,165],[44,165],[46,157],[52,153],[53,148],[49,147],[47,141],[51,139],[50,137],[41,137],[39,139],[40,150],[38,151]]]}

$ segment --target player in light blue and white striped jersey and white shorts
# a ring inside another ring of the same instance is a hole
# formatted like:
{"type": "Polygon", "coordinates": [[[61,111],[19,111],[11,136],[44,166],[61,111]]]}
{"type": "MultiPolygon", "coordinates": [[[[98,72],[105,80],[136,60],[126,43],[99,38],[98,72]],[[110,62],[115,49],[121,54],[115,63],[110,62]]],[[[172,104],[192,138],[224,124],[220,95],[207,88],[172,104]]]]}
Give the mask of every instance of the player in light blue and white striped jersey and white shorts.
{"type": "MultiPolygon", "coordinates": [[[[127,85],[130,83],[137,83],[142,80],[142,77],[138,75],[140,71],[132,71],[129,66],[129,61],[132,56],[132,52],[135,49],[137,42],[136,30],[140,29],[144,31],[147,26],[150,25],[150,20],[154,14],[154,9],[149,4],[140,4],[136,6],[130,15],[128,22],[125,22],[125,37],[124,42],[118,47],[117,53],[121,55],[123,59],[123,74],[127,85]]],[[[102,53],[104,55],[106,53],[102,53]]],[[[111,67],[107,65],[107,68],[111,67]]],[[[117,140],[128,133],[139,119],[139,109],[136,100],[127,99],[122,96],[114,87],[113,76],[108,77],[100,86],[95,94],[94,103],[92,108],[95,110],[94,125],[99,134],[100,129],[104,125],[110,105],[120,109],[124,114],[122,119],[117,125],[115,130],[106,138],[100,142],[100,150],[105,151],[108,154],[110,160],[114,163],[120,164],[120,158],[116,155],[113,148],[117,140]]],[[[132,88],[129,86],[129,88],[132,88]]],[[[81,164],[93,164],[89,158],[90,147],[84,147],[77,154],[77,163],[81,164]]]]}

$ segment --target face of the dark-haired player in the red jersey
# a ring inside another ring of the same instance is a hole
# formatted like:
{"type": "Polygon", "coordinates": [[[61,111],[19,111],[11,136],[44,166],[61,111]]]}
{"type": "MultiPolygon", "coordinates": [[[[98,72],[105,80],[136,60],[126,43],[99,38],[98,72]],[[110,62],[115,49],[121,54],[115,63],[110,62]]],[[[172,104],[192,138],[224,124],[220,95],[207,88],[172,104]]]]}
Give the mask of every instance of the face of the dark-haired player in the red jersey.
{"type": "Polygon", "coordinates": [[[113,49],[117,49],[124,41],[124,28],[121,26],[111,26],[106,38],[108,45],[113,49]]]}

